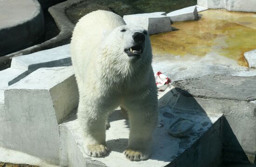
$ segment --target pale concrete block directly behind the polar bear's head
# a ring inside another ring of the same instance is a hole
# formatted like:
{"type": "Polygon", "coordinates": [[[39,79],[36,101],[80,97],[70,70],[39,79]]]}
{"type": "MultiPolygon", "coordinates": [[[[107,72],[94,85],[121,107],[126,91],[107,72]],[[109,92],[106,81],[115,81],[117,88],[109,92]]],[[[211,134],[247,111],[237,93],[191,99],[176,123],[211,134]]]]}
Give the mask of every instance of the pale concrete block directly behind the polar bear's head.
{"type": "Polygon", "coordinates": [[[145,28],[149,35],[172,31],[170,19],[165,12],[124,15],[123,19],[127,25],[145,28]]]}

